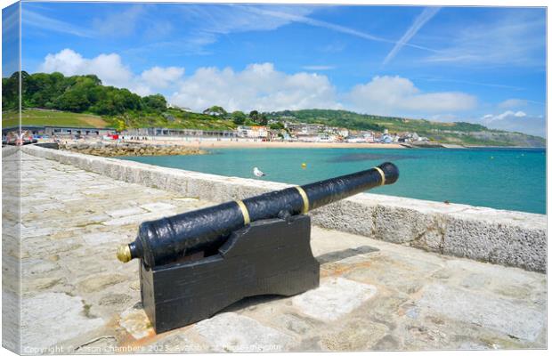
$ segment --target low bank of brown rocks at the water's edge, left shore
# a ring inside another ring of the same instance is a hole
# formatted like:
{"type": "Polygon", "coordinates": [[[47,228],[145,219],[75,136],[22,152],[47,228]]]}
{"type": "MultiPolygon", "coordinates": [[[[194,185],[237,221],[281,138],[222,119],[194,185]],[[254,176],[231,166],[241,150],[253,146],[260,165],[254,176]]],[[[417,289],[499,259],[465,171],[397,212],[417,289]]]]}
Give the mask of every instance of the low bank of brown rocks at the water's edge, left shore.
{"type": "Polygon", "coordinates": [[[101,157],[202,155],[207,153],[205,150],[179,145],[149,143],[69,142],[60,143],[59,148],[60,150],[69,150],[101,157]]]}

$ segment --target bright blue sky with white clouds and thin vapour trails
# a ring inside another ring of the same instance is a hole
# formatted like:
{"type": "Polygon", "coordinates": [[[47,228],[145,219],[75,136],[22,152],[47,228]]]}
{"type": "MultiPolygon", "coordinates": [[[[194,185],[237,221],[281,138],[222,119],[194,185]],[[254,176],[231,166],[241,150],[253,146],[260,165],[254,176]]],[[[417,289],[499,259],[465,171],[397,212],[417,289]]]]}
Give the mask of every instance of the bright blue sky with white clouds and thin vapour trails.
{"type": "Polygon", "coordinates": [[[195,110],[351,109],[546,134],[543,8],[23,3],[22,48],[29,72],[90,72],[195,110]]]}

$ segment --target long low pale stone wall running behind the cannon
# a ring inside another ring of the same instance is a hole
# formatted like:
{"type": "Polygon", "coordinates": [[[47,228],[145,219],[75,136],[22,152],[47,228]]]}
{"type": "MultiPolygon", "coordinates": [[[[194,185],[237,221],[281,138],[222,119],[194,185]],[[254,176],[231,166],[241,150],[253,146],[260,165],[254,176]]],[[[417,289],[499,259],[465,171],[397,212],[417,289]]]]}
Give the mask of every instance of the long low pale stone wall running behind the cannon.
{"type": "MultiPolygon", "coordinates": [[[[248,198],[288,184],[201,174],[63,150],[25,146],[37,157],[54,159],[125,182],[172,190],[222,203],[248,198]]],[[[309,213],[313,223],[426,251],[545,272],[546,215],[486,207],[358,194],[309,213]]]]}

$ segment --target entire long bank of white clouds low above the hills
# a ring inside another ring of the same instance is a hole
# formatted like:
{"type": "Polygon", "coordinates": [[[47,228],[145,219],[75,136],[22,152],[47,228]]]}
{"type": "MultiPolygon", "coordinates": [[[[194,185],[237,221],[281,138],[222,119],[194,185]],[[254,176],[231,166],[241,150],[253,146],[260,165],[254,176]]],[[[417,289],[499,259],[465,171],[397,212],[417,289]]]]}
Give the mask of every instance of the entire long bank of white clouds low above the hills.
{"type": "MultiPolygon", "coordinates": [[[[325,69],[314,68],[312,69],[325,69]]],[[[104,85],[128,88],[134,93],[172,93],[167,99],[194,110],[220,105],[227,110],[353,109],[379,115],[413,116],[450,114],[473,109],[467,93],[422,93],[404,77],[374,77],[348,93],[337,93],[329,77],[313,72],[288,74],[272,63],[254,63],[241,71],[203,67],[184,76],[182,67],[153,67],[134,74],[117,53],[91,59],[70,49],[48,54],[40,71],[66,76],[95,74],[104,85]]]]}

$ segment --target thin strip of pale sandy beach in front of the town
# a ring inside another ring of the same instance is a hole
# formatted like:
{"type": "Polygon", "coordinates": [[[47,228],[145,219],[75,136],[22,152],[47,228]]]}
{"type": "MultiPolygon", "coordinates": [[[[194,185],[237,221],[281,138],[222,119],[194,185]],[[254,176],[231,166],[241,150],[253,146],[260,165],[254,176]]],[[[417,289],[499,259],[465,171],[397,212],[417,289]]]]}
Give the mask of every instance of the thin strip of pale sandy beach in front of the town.
{"type": "MultiPolygon", "coordinates": [[[[143,142],[124,140],[125,142],[143,142]]],[[[345,143],[345,142],[262,142],[209,139],[150,140],[148,143],[175,144],[194,149],[405,149],[397,143],[345,143]]]]}

